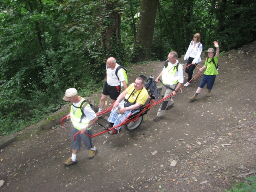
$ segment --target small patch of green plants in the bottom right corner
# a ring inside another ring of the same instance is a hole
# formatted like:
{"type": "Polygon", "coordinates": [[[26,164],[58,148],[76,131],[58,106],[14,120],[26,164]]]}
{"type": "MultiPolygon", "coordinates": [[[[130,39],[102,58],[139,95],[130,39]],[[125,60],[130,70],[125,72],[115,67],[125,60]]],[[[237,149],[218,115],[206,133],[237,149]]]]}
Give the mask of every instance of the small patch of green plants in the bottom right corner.
{"type": "MultiPolygon", "coordinates": [[[[256,173],[256,170],[254,171],[256,173]]],[[[236,183],[234,187],[226,192],[256,192],[256,178],[254,175],[245,178],[242,183],[236,183]]]]}

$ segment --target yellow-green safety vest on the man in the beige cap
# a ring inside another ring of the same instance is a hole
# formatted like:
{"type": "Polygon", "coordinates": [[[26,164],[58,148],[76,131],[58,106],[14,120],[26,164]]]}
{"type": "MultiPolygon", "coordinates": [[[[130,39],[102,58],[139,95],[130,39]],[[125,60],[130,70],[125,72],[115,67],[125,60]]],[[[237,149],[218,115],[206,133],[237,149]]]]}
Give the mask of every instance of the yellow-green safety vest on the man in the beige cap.
{"type": "MultiPolygon", "coordinates": [[[[80,97],[82,98],[82,97],[80,97]]],[[[90,121],[86,118],[84,118],[84,115],[82,114],[81,111],[81,103],[84,100],[84,98],[82,98],[80,104],[79,104],[79,108],[76,108],[75,113],[73,112],[73,105],[70,108],[70,119],[72,121],[72,124],[74,126],[74,128],[81,130],[83,128],[86,128],[86,126],[90,123],[90,121]]],[[[88,104],[90,106],[90,104],[88,104]]],[[[87,130],[90,130],[92,127],[88,128],[87,130]]]]}

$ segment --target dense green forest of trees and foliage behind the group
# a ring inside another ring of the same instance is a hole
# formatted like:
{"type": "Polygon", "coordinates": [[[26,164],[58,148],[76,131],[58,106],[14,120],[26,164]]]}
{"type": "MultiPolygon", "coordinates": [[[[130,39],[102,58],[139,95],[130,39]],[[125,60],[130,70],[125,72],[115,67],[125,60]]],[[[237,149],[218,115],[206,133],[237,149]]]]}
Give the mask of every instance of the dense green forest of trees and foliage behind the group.
{"type": "Polygon", "coordinates": [[[1,0],[0,135],[88,96],[106,59],[129,66],[186,52],[193,35],[221,51],[256,40],[255,0],[1,0]]]}

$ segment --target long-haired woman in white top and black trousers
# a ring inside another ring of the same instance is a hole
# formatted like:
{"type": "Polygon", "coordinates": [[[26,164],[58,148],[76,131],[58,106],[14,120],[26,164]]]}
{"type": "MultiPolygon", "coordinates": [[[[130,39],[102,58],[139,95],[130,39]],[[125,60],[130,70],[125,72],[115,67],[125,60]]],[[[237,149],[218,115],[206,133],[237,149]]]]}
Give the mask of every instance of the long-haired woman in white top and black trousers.
{"type": "Polygon", "coordinates": [[[188,60],[187,66],[190,65],[188,68],[186,67],[185,72],[188,74],[188,80],[184,85],[189,86],[190,81],[192,79],[193,71],[196,68],[197,64],[201,61],[201,53],[203,50],[203,45],[200,43],[201,36],[199,33],[194,34],[193,40],[190,42],[186,55],[184,56],[184,60],[188,60]]]}

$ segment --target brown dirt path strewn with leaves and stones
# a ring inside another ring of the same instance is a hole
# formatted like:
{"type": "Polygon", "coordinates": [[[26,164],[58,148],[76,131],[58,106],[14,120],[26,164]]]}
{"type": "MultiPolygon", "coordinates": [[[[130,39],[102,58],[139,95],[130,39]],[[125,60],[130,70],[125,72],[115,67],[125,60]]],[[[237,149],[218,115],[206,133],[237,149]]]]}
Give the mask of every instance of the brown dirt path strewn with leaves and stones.
{"type": "MultiPolygon", "coordinates": [[[[130,67],[130,83],[140,74],[158,76],[163,63],[130,67]]],[[[204,60],[199,66],[203,64],[204,60]]],[[[226,52],[219,65],[210,98],[204,88],[196,101],[188,99],[200,84],[200,74],[173,98],[174,106],[160,121],[153,121],[157,105],[144,115],[137,130],[122,128],[116,135],[94,137],[98,153],[89,160],[82,146],[77,165],[62,164],[71,156],[70,122],[54,130],[34,125],[16,133],[16,141],[0,151],[0,180],[5,181],[0,191],[223,192],[232,188],[234,182],[244,181],[244,174],[256,170],[256,42],[226,52]]],[[[186,82],[187,74],[184,77],[186,82]]],[[[100,96],[92,97],[99,101],[100,96]]],[[[104,117],[98,122],[107,123],[104,117]]],[[[98,133],[102,127],[93,130],[98,133]]]]}

